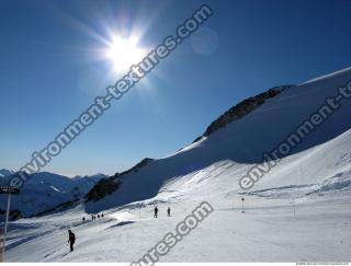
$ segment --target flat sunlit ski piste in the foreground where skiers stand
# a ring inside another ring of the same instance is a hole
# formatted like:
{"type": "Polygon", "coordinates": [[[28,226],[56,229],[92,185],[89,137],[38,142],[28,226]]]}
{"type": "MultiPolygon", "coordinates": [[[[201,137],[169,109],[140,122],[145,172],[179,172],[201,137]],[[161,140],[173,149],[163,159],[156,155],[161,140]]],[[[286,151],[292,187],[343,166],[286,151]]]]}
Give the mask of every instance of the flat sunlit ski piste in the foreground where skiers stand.
{"type": "MultiPolygon", "coordinates": [[[[161,257],[161,262],[350,262],[350,193],[341,197],[291,199],[246,197],[210,203],[215,211],[190,235],[161,257]],[[234,208],[233,208],[234,204],[234,208]]],[[[11,224],[10,262],[134,262],[173,232],[200,201],[188,199],[159,204],[160,218],[152,218],[152,205],[110,212],[94,222],[81,223],[82,209],[25,219],[11,224]],[[171,206],[172,217],[166,217],[171,206]],[[67,230],[77,236],[69,253],[67,230]]]]}

